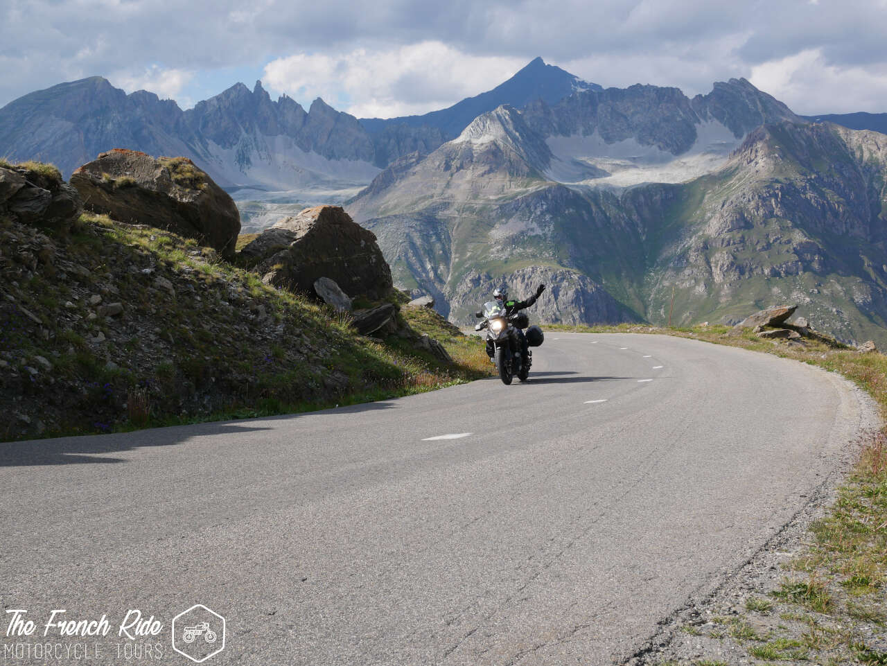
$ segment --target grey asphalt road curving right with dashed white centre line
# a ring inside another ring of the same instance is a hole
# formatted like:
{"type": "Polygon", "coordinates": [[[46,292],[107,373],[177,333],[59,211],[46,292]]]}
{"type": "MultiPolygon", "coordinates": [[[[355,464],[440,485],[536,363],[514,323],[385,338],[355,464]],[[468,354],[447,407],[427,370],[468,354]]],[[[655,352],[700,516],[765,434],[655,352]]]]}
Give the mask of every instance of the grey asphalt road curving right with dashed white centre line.
{"type": "Polygon", "coordinates": [[[548,333],[525,385],[0,444],[0,600],[36,625],[5,636],[7,613],[0,641],[50,640],[64,608],[108,616],[90,663],[190,663],[170,622],[199,603],[226,619],[211,664],[620,662],[791,521],[873,419],[804,364],[548,333]],[[129,609],[163,624],[140,659],[114,646],[129,609]]]}

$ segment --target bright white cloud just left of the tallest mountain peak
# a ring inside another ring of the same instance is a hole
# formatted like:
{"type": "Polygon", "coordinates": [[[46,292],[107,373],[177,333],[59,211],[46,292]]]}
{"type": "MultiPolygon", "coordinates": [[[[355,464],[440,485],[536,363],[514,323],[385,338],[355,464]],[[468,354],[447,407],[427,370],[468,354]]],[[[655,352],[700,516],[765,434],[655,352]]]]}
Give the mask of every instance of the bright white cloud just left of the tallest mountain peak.
{"type": "Polygon", "coordinates": [[[473,56],[427,41],[340,55],[299,53],[272,60],[263,83],[304,102],[321,97],[357,117],[424,114],[505,81],[523,58],[473,56]]]}

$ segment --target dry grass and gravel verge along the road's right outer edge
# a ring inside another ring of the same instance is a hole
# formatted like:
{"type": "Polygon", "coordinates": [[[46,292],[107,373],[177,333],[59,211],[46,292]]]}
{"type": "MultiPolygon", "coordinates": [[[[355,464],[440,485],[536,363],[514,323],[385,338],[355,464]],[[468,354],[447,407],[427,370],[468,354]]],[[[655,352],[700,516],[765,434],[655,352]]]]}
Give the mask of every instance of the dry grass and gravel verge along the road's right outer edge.
{"type": "MultiPolygon", "coordinates": [[[[652,333],[793,358],[840,372],[887,417],[887,357],[826,341],[764,341],[726,326],[563,326],[580,333],[652,333]]],[[[644,663],[887,664],[887,427],[863,443],[834,505],[814,521],[800,551],[744,599],[695,609],[668,646],[644,663]]]]}

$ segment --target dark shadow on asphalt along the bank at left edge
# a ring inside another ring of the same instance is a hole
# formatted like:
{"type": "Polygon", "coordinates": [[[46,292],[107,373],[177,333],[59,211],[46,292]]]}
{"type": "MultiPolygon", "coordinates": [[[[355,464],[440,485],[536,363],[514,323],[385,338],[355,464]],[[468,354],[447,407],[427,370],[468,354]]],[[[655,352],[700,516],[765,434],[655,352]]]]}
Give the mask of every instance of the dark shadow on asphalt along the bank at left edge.
{"type": "Polygon", "coordinates": [[[203,435],[239,435],[268,427],[249,427],[247,421],[200,423],[194,426],[155,427],[132,433],[83,435],[27,442],[0,443],[0,467],[26,465],[71,465],[74,463],[122,463],[125,458],[97,457],[99,453],[119,453],[146,446],[173,446],[203,435]]]}

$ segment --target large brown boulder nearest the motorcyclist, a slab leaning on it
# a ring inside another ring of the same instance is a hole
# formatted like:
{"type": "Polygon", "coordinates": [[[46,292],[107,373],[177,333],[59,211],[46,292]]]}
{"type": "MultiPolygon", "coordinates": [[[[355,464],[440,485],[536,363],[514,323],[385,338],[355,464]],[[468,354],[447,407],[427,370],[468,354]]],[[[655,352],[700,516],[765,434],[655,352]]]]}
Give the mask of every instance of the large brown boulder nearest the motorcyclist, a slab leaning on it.
{"type": "Polygon", "coordinates": [[[255,263],[266,284],[314,293],[330,278],[351,298],[380,299],[391,289],[391,270],[376,237],[340,206],[305,208],[263,231],[240,254],[255,263]]]}

